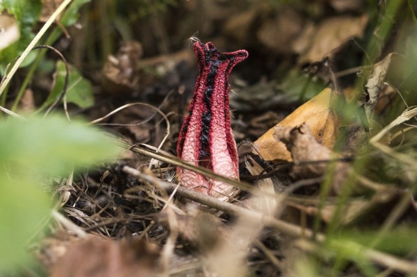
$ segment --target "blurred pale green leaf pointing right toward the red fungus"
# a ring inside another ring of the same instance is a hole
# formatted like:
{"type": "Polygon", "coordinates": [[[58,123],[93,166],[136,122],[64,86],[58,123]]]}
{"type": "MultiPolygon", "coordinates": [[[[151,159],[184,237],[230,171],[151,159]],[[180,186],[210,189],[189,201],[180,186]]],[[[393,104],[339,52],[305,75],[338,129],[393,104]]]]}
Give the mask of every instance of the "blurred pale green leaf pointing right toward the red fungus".
{"type": "Polygon", "coordinates": [[[21,167],[61,174],[111,158],[120,150],[98,128],[50,115],[28,120],[9,118],[0,124],[0,161],[13,171],[21,167]]]}

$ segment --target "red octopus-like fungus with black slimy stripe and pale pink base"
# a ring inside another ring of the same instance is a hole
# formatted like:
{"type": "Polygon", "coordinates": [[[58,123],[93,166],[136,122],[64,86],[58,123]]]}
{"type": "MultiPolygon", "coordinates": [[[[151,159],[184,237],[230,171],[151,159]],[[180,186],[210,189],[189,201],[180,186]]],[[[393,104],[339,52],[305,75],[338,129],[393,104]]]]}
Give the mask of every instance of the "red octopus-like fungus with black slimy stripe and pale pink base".
{"type": "MultiPolygon", "coordinates": [[[[199,75],[194,96],[178,138],[177,154],[182,159],[215,173],[239,179],[236,143],[230,127],[229,75],[248,57],[246,50],[219,53],[213,43],[194,43],[199,75]]],[[[177,168],[183,186],[226,200],[235,188],[221,181],[177,168]]]]}

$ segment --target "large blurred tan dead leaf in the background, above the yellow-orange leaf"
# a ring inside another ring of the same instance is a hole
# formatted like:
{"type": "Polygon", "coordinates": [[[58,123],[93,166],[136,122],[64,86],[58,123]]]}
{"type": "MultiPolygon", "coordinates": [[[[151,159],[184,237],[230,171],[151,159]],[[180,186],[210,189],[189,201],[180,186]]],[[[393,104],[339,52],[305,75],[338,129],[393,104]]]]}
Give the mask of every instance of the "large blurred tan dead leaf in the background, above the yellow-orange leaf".
{"type": "Polygon", "coordinates": [[[362,37],[367,23],[368,17],[366,15],[360,17],[339,16],[324,20],[319,24],[314,34],[305,32],[303,33],[304,37],[299,37],[298,42],[295,42],[294,45],[299,45],[303,44],[302,41],[311,41],[310,48],[301,54],[299,63],[321,61],[349,39],[362,37]]]}

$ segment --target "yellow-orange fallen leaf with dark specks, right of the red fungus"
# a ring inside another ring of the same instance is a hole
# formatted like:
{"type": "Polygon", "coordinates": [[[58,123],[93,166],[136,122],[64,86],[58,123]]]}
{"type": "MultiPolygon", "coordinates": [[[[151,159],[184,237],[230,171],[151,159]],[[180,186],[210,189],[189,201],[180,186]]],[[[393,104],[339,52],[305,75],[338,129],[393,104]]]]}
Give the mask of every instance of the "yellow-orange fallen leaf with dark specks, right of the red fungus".
{"type": "MultiPolygon", "coordinates": [[[[331,108],[332,97],[332,90],[325,88],[316,97],[297,108],[276,126],[296,127],[305,122],[319,143],[332,149],[336,132],[339,128],[338,118],[331,108]]],[[[290,152],[285,145],[274,138],[274,128],[269,129],[255,141],[254,153],[260,154],[267,161],[291,161],[290,152]]]]}

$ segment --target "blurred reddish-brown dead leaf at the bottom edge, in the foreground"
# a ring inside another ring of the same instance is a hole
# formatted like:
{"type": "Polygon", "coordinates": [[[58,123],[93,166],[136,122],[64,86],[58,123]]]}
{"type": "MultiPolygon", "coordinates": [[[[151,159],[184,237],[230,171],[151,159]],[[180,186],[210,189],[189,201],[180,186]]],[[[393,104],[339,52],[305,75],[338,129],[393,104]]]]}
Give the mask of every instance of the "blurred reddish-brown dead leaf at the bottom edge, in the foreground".
{"type": "Polygon", "coordinates": [[[156,276],[157,246],[143,240],[113,241],[91,235],[68,247],[51,269],[51,277],[156,276]]]}

